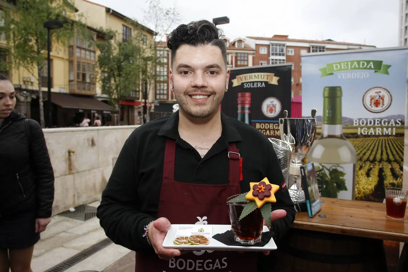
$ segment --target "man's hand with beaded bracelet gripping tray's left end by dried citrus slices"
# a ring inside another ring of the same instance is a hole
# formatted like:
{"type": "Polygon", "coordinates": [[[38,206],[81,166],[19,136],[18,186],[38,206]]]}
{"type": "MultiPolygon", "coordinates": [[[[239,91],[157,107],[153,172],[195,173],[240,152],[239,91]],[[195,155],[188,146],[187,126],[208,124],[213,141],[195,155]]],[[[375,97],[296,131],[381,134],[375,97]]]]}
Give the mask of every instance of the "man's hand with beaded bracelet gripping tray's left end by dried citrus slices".
{"type": "Polygon", "coordinates": [[[172,248],[163,248],[163,241],[167,232],[170,229],[170,221],[164,217],[160,217],[149,225],[147,236],[153,246],[157,256],[162,260],[170,260],[172,257],[180,256],[180,250],[172,248]]]}

